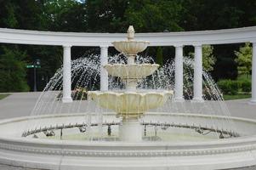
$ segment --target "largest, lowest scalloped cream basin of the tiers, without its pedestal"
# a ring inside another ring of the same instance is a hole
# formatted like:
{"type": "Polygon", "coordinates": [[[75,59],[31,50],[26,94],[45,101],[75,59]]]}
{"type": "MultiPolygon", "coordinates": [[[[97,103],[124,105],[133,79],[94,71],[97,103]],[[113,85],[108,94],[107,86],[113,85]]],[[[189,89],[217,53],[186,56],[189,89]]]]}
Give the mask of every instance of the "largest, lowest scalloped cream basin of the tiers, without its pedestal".
{"type": "Polygon", "coordinates": [[[88,95],[105,109],[122,116],[138,116],[150,109],[162,106],[173,96],[174,91],[90,91],[88,95]]]}

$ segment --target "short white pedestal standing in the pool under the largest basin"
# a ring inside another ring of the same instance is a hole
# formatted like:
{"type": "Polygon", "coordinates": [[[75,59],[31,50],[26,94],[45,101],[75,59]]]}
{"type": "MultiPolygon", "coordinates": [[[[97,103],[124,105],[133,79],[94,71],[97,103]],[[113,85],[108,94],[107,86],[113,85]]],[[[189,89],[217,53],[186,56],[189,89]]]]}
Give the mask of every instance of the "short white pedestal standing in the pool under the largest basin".
{"type": "Polygon", "coordinates": [[[121,141],[140,142],[142,141],[142,129],[137,118],[122,119],[119,126],[119,138],[121,141]]]}

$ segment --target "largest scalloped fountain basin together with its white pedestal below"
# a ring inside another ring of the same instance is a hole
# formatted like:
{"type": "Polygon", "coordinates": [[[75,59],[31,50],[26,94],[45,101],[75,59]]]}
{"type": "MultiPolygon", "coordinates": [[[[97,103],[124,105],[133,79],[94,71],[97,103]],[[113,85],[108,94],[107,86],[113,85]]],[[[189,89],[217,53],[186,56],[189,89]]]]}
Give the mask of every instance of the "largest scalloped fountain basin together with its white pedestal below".
{"type": "Polygon", "coordinates": [[[124,92],[89,92],[89,96],[105,109],[117,112],[122,117],[119,127],[119,137],[126,142],[142,140],[141,126],[138,118],[150,110],[162,106],[173,91],[124,91],[124,92]]]}

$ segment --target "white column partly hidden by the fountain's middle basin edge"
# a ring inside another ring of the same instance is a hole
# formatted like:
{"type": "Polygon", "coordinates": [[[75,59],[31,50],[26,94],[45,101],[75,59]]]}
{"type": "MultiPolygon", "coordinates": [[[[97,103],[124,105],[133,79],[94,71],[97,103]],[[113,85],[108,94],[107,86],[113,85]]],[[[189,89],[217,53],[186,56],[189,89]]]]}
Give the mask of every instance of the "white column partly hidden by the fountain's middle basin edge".
{"type": "Polygon", "coordinates": [[[108,73],[103,68],[108,63],[108,50],[107,46],[100,47],[100,91],[108,90],[108,73]]]}

